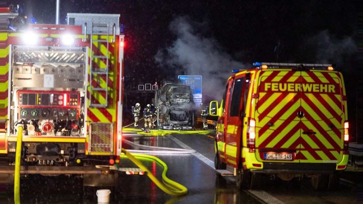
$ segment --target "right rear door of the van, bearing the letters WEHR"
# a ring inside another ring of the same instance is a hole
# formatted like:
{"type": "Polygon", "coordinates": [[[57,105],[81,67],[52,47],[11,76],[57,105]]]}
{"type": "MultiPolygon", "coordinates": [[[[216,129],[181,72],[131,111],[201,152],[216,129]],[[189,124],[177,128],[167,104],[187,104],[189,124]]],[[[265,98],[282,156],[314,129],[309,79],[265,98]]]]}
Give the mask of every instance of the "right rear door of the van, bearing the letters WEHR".
{"type": "Polygon", "coordinates": [[[338,72],[301,71],[301,163],[343,158],[343,81],[338,72]]]}

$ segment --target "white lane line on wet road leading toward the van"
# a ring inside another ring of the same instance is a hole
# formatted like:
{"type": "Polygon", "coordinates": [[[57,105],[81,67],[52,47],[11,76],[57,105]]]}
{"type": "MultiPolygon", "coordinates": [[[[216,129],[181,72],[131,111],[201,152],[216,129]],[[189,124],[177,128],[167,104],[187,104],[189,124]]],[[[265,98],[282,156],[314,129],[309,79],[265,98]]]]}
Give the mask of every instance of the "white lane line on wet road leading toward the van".
{"type": "MultiPolygon", "coordinates": [[[[183,142],[181,142],[180,140],[176,139],[174,136],[168,135],[168,137],[171,140],[173,140],[175,143],[177,143],[180,147],[183,147],[184,149],[188,149],[188,150],[193,150],[188,145],[186,145],[183,142]]],[[[212,160],[206,158],[205,156],[201,155],[198,152],[197,153],[193,153],[191,155],[193,155],[196,158],[200,159],[202,162],[204,162],[209,167],[211,167],[213,170],[215,170],[214,162],[212,160]]],[[[248,190],[248,192],[251,193],[253,196],[257,197],[258,199],[260,199],[261,201],[263,201],[265,203],[268,203],[268,204],[285,204],[281,200],[278,200],[276,197],[273,197],[272,195],[270,195],[269,193],[267,193],[265,191],[248,190]]]]}

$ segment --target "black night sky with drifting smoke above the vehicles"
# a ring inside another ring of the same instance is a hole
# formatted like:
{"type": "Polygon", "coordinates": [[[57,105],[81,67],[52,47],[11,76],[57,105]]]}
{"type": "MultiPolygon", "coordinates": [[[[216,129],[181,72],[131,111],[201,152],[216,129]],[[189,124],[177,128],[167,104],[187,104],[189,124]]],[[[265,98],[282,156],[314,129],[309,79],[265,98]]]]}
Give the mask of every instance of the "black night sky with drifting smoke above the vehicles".
{"type": "MultiPolygon", "coordinates": [[[[24,4],[38,23],[55,23],[55,0],[9,3],[24,4]]],[[[66,13],[77,12],[121,14],[126,87],[202,75],[212,82],[203,80],[208,102],[220,100],[232,69],[252,62],[329,63],[343,73],[355,121],[356,1],[61,0],[62,24],[66,13]]]]}

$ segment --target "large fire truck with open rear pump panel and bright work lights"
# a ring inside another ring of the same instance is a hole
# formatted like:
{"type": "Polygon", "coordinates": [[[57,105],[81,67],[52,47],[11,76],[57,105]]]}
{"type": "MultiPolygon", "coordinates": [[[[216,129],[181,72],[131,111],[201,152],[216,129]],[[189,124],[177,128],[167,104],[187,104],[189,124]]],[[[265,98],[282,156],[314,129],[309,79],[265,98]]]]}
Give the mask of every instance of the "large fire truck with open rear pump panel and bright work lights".
{"type": "Polygon", "coordinates": [[[14,171],[18,126],[22,174],[93,176],[103,171],[95,165],[119,162],[124,45],[119,17],[68,13],[68,25],[19,21],[1,29],[5,173],[14,171]]]}

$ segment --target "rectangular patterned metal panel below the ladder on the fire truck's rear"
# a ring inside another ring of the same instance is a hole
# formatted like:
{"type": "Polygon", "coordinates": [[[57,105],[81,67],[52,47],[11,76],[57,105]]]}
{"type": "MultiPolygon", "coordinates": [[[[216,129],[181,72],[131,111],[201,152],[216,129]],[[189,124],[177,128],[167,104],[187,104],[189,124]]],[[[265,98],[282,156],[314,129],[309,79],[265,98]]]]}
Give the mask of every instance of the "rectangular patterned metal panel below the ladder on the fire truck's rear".
{"type": "Polygon", "coordinates": [[[89,152],[112,152],[114,123],[90,123],[89,152]]]}

